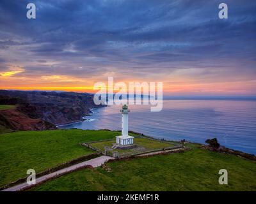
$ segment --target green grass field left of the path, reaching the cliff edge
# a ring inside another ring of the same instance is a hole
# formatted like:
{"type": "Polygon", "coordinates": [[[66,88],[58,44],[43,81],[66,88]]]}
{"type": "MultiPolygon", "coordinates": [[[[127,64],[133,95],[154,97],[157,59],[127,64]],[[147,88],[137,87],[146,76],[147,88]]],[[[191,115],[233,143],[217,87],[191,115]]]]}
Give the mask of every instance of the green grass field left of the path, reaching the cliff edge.
{"type": "Polygon", "coordinates": [[[0,186],[93,153],[79,143],[120,135],[115,131],[20,131],[0,135],[0,186]]]}

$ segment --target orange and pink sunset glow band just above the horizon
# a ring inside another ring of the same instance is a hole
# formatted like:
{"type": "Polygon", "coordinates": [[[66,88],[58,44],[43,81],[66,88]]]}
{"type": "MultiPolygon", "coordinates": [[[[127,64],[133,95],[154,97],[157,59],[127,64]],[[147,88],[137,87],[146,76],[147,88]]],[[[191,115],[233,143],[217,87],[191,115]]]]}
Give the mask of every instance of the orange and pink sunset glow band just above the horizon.
{"type": "MultiPolygon", "coordinates": [[[[93,80],[88,80],[86,78],[77,78],[71,76],[61,76],[61,75],[49,75],[42,77],[29,78],[26,76],[17,77],[17,74],[22,73],[22,71],[7,71],[0,73],[0,89],[15,89],[23,91],[31,90],[42,90],[42,91],[74,91],[74,92],[90,92],[94,93],[95,89],[93,86],[96,82],[104,82],[108,86],[108,78],[96,77],[93,80]]],[[[163,77],[164,79],[165,77],[163,77]]],[[[122,78],[126,84],[129,82],[153,82],[153,79],[148,79],[147,81],[136,80],[132,81],[122,78]]],[[[120,80],[115,80],[114,83],[120,82],[120,80]]],[[[201,94],[241,94],[250,95],[254,93],[254,87],[256,85],[256,80],[249,82],[196,82],[193,79],[182,79],[173,78],[172,81],[165,79],[163,81],[163,91],[166,94],[182,94],[182,93],[201,93],[201,94]]]]}

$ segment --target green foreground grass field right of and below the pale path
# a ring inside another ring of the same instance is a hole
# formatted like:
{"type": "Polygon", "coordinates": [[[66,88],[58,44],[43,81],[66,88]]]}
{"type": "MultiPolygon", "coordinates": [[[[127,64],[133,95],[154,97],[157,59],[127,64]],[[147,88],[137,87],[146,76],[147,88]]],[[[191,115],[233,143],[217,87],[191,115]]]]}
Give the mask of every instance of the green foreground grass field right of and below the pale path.
{"type": "Polygon", "coordinates": [[[194,149],[184,153],[108,163],[79,170],[32,191],[255,191],[256,164],[236,156],[194,149]],[[218,184],[220,169],[228,185],[218,184]]]}

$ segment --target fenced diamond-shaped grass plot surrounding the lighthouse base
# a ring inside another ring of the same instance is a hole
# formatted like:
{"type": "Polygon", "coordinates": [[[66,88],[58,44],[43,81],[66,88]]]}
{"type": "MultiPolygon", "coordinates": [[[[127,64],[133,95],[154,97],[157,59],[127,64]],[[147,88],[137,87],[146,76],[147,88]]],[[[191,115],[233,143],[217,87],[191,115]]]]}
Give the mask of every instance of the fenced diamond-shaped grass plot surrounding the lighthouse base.
{"type": "Polygon", "coordinates": [[[156,140],[149,140],[147,138],[134,138],[134,144],[136,145],[135,148],[132,149],[111,149],[113,146],[112,144],[116,143],[116,140],[111,141],[104,141],[104,142],[96,142],[92,143],[93,147],[102,150],[104,152],[105,147],[109,148],[109,152],[118,152],[119,156],[127,156],[130,154],[136,154],[139,152],[146,152],[150,150],[162,149],[164,147],[173,147],[177,144],[173,143],[165,143],[165,142],[158,142],[156,140]]]}

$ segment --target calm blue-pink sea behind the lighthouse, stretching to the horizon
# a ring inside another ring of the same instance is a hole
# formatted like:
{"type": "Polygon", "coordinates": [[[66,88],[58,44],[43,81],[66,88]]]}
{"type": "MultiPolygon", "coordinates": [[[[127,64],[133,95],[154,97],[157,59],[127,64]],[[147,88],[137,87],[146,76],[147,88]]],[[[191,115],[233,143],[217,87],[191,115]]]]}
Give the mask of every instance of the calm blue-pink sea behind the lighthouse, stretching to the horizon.
{"type": "MultiPolygon", "coordinates": [[[[218,138],[221,145],[256,154],[256,101],[164,100],[161,112],[151,105],[129,105],[129,130],[168,140],[204,143],[218,138]]],[[[92,110],[83,122],[61,129],[121,129],[121,105],[92,110]]]]}

